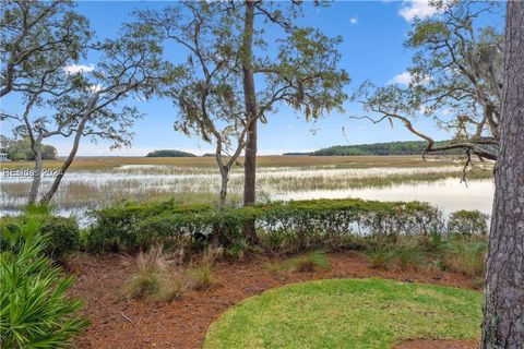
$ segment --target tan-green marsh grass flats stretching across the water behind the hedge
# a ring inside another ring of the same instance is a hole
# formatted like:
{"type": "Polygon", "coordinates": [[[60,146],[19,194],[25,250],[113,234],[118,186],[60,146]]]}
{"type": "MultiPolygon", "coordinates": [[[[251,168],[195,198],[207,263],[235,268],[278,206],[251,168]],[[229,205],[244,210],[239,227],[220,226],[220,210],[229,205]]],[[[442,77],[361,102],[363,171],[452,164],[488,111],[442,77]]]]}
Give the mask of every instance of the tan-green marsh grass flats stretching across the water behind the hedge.
{"type": "MultiPolygon", "coordinates": [[[[52,167],[53,161],[48,166],[52,167]]],[[[258,173],[259,200],[293,197],[307,191],[338,191],[386,188],[460,178],[462,168],[451,158],[424,163],[418,157],[261,157],[258,173]]],[[[27,167],[5,163],[2,167],[27,167]]],[[[469,179],[491,178],[488,169],[469,173],[469,179]]],[[[51,184],[44,178],[41,191],[51,184]]],[[[211,158],[79,158],[53,198],[61,209],[79,209],[122,200],[141,201],[184,195],[190,202],[216,202],[219,174],[211,158]]],[[[235,167],[229,181],[229,203],[238,205],[243,173],[235,167]]],[[[2,177],[3,209],[22,206],[31,178],[2,177]]]]}

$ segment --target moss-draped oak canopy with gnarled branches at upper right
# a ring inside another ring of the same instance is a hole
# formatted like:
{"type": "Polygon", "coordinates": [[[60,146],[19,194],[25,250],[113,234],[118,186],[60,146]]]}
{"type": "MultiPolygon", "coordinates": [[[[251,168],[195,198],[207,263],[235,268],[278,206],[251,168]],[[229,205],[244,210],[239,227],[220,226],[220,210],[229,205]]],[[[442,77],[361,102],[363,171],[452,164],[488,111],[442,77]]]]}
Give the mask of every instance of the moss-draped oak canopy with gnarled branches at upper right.
{"type": "Polygon", "coordinates": [[[434,1],[438,15],[416,19],[405,45],[415,50],[407,86],[367,82],[354,95],[373,122],[394,120],[427,142],[425,152],[462,149],[469,159],[497,158],[501,122],[503,36],[479,26],[483,15],[502,11],[496,2],[434,1]],[[418,125],[430,118],[453,140],[438,144],[418,125]]]}

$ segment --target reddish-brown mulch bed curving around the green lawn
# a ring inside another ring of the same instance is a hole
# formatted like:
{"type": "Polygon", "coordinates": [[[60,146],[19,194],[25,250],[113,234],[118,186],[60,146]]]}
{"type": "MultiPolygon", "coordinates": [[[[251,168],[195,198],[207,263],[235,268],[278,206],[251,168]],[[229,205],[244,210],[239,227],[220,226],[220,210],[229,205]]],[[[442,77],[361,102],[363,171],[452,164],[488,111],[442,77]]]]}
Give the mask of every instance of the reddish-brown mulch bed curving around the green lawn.
{"type": "MultiPolygon", "coordinates": [[[[306,280],[381,277],[474,288],[472,280],[452,273],[372,269],[367,266],[364,256],[353,252],[330,254],[330,262],[331,272],[286,272],[277,275],[262,268],[262,258],[218,262],[214,266],[217,287],[191,291],[170,303],[152,304],[120,296],[122,284],[133,272],[129,258],[79,254],[69,262],[70,270],[76,276],[71,293],[84,300],[84,314],[92,324],[76,339],[74,348],[200,348],[207,327],[229,306],[270,288],[306,280]]],[[[474,342],[464,341],[410,340],[396,348],[477,347],[474,342]]]]}

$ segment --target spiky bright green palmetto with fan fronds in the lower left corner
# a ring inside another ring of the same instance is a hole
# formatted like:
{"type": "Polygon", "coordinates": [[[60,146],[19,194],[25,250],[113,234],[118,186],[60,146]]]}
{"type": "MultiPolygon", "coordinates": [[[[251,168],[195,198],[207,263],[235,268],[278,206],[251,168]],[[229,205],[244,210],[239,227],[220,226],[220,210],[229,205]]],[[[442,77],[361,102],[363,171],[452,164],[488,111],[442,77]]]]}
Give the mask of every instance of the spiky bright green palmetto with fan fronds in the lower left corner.
{"type": "Polygon", "coordinates": [[[76,315],[82,302],[67,291],[73,279],[44,255],[39,222],[28,218],[4,234],[0,254],[2,348],[64,348],[88,322],[76,315]]]}

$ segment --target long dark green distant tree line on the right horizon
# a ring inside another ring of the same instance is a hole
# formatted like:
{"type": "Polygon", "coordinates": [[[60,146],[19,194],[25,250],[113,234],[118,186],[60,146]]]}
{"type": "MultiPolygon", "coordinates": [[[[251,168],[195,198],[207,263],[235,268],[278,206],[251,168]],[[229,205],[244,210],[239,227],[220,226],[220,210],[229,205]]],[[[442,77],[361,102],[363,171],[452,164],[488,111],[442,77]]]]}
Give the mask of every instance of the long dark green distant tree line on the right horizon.
{"type": "MultiPolygon", "coordinates": [[[[438,146],[450,144],[449,141],[434,143],[438,146]]],[[[428,143],[425,141],[388,142],[357,145],[334,145],[311,153],[284,153],[286,156],[372,156],[372,155],[420,155],[426,151],[428,143]]],[[[458,148],[438,152],[438,154],[458,155],[458,148]]]]}

